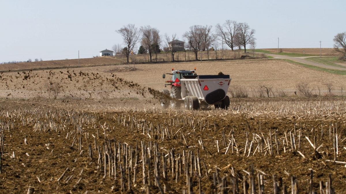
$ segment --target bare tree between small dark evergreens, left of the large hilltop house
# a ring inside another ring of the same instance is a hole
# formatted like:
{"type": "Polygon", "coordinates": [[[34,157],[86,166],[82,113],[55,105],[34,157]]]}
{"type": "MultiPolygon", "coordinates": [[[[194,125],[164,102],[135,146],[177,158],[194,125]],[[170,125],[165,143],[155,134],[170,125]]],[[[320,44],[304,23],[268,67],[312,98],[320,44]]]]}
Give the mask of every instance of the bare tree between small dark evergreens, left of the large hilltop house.
{"type": "Polygon", "coordinates": [[[152,62],[152,48],[151,45],[154,43],[159,44],[161,42],[160,30],[152,28],[151,26],[140,27],[142,32],[142,45],[149,53],[150,62],[152,62]]]}

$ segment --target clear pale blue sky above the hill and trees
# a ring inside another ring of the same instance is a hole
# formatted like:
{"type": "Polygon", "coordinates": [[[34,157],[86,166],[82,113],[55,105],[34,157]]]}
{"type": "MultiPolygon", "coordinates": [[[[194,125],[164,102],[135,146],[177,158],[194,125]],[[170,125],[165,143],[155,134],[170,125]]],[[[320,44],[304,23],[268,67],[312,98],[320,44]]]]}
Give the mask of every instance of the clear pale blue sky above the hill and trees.
{"type": "Polygon", "coordinates": [[[90,58],[122,43],[115,30],[151,25],[179,38],[192,25],[247,22],[257,48],[333,47],[346,31],[345,0],[1,0],[0,62],[90,58]]]}

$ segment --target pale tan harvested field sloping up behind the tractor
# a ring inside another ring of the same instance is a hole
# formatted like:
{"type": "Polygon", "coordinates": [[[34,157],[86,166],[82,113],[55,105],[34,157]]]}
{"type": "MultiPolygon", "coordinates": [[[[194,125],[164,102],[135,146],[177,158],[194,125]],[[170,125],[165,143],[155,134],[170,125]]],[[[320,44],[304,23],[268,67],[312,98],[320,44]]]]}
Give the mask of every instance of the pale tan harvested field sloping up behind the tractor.
{"type": "MultiPolygon", "coordinates": [[[[218,74],[222,71],[232,78],[232,87],[247,90],[249,96],[258,96],[260,86],[272,88],[274,94],[284,92],[293,96],[297,84],[308,83],[312,93],[324,96],[326,83],[331,83],[333,94],[341,95],[346,88],[346,76],[313,70],[284,60],[260,59],[238,61],[207,61],[164,64],[117,65],[59,70],[37,70],[0,73],[1,98],[53,99],[53,86],[58,86],[58,99],[142,99],[147,89],[164,89],[164,72],[175,69],[193,69],[198,74],[218,74]],[[135,68],[135,69],[134,69],[135,68]],[[331,76],[333,75],[333,76],[331,76]],[[127,83],[124,84],[123,83],[127,83]],[[135,85],[136,84],[136,85],[135,85]],[[117,89],[118,88],[118,89],[117,89]],[[142,95],[143,93],[143,95],[142,95]]],[[[231,87],[231,88],[232,88],[231,87]]],[[[297,91],[297,95],[299,92],[297,91]]]]}

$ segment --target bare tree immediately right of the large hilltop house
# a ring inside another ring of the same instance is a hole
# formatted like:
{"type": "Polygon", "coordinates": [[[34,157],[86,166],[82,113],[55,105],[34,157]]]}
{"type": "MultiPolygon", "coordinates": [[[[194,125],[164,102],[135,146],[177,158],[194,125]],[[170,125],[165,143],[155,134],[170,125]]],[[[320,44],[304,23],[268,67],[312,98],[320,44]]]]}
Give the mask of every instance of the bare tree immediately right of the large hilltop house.
{"type": "Polygon", "coordinates": [[[188,40],[188,48],[194,52],[195,60],[198,60],[198,51],[201,49],[203,36],[203,27],[199,25],[191,26],[190,30],[184,33],[184,37],[188,40]]]}

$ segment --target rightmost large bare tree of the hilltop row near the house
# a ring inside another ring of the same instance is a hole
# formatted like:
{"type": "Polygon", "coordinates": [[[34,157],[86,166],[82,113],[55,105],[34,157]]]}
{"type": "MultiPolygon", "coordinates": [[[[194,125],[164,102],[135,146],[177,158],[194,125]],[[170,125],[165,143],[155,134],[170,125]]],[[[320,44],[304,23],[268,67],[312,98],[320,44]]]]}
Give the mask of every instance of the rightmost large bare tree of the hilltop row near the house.
{"type": "Polygon", "coordinates": [[[244,22],[238,24],[236,31],[236,41],[238,41],[239,46],[244,47],[244,52],[246,52],[246,45],[249,44],[250,40],[254,38],[255,30],[250,29],[249,25],[244,22]]]}

